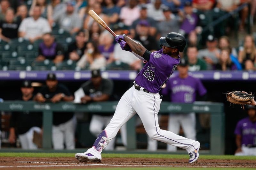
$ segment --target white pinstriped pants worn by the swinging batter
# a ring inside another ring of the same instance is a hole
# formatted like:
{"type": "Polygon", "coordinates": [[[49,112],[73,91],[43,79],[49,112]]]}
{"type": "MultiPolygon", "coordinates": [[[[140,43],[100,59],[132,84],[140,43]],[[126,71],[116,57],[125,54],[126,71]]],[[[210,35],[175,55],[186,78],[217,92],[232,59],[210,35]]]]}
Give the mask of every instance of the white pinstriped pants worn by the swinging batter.
{"type": "Polygon", "coordinates": [[[148,136],[152,139],[180,147],[187,152],[198,148],[200,146],[198,141],[159,128],[157,115],[161,101],[158,93],[146,93],[143,92],[143,88],[138,91],[132,86],[118,102],[116,112],[105,129],[109,142],[116,136],[124,123],[137,113],[148,136]]]}

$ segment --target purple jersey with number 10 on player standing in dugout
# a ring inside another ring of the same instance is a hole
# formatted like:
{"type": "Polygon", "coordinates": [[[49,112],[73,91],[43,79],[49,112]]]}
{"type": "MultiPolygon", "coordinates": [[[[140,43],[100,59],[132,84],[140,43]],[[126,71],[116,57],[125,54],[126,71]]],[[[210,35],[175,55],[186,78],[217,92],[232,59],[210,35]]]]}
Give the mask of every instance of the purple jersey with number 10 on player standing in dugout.
{"type": "Polygon", "coordinates": [[[196,101],[196,93],[203,96],[206,92],[202,82],[192,76],[170,78],[166,82],[166,87],[162,90],[163,94],[170,94],[172,102],[178,103],[192,103],[196,101]]]}

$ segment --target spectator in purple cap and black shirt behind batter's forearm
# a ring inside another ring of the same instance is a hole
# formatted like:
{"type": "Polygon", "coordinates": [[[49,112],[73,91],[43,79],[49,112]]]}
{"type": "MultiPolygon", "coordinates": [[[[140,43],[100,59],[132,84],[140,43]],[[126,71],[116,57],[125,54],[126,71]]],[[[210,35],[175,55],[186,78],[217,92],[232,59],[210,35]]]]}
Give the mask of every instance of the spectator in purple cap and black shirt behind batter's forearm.
{"type": "Polygon", "coordinates": [[[134,37],[134,40],[140,41],[141,44],[149,51],[156,51],[160,47],[158,47],[156,39],[151,36],[149,32],[150,25],[148,21],[141,20],[137,26],[137,35],[134,37]]]}

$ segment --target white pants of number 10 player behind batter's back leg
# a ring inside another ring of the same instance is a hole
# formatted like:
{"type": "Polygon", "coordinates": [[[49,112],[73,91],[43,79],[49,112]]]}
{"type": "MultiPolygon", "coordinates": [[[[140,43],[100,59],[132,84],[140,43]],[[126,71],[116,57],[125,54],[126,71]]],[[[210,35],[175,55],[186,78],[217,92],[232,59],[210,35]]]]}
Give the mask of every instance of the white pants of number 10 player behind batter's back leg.
{"type": "MultiPolygon", "coordinates": [[[[196,140],[196,114],[169,114],[168,130],[179,135],[180,125],[185,137],[196,140]]],[[[176,152],[177,147],[167,145],[167,151],[176,152]]]]}

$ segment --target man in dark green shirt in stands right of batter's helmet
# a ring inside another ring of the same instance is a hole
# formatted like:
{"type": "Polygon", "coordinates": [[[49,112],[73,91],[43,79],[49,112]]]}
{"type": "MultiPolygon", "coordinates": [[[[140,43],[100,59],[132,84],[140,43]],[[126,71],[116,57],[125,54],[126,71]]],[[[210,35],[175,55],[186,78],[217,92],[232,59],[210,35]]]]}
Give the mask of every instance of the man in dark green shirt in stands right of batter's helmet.
{"type": "Polygon", "coordinates": [[[200,58],[197,58],[197,55],[198,51],[196,46],[189,46],[187,48],[189,71],[200,71],[207,69],[205,61],[200,58]]]}

